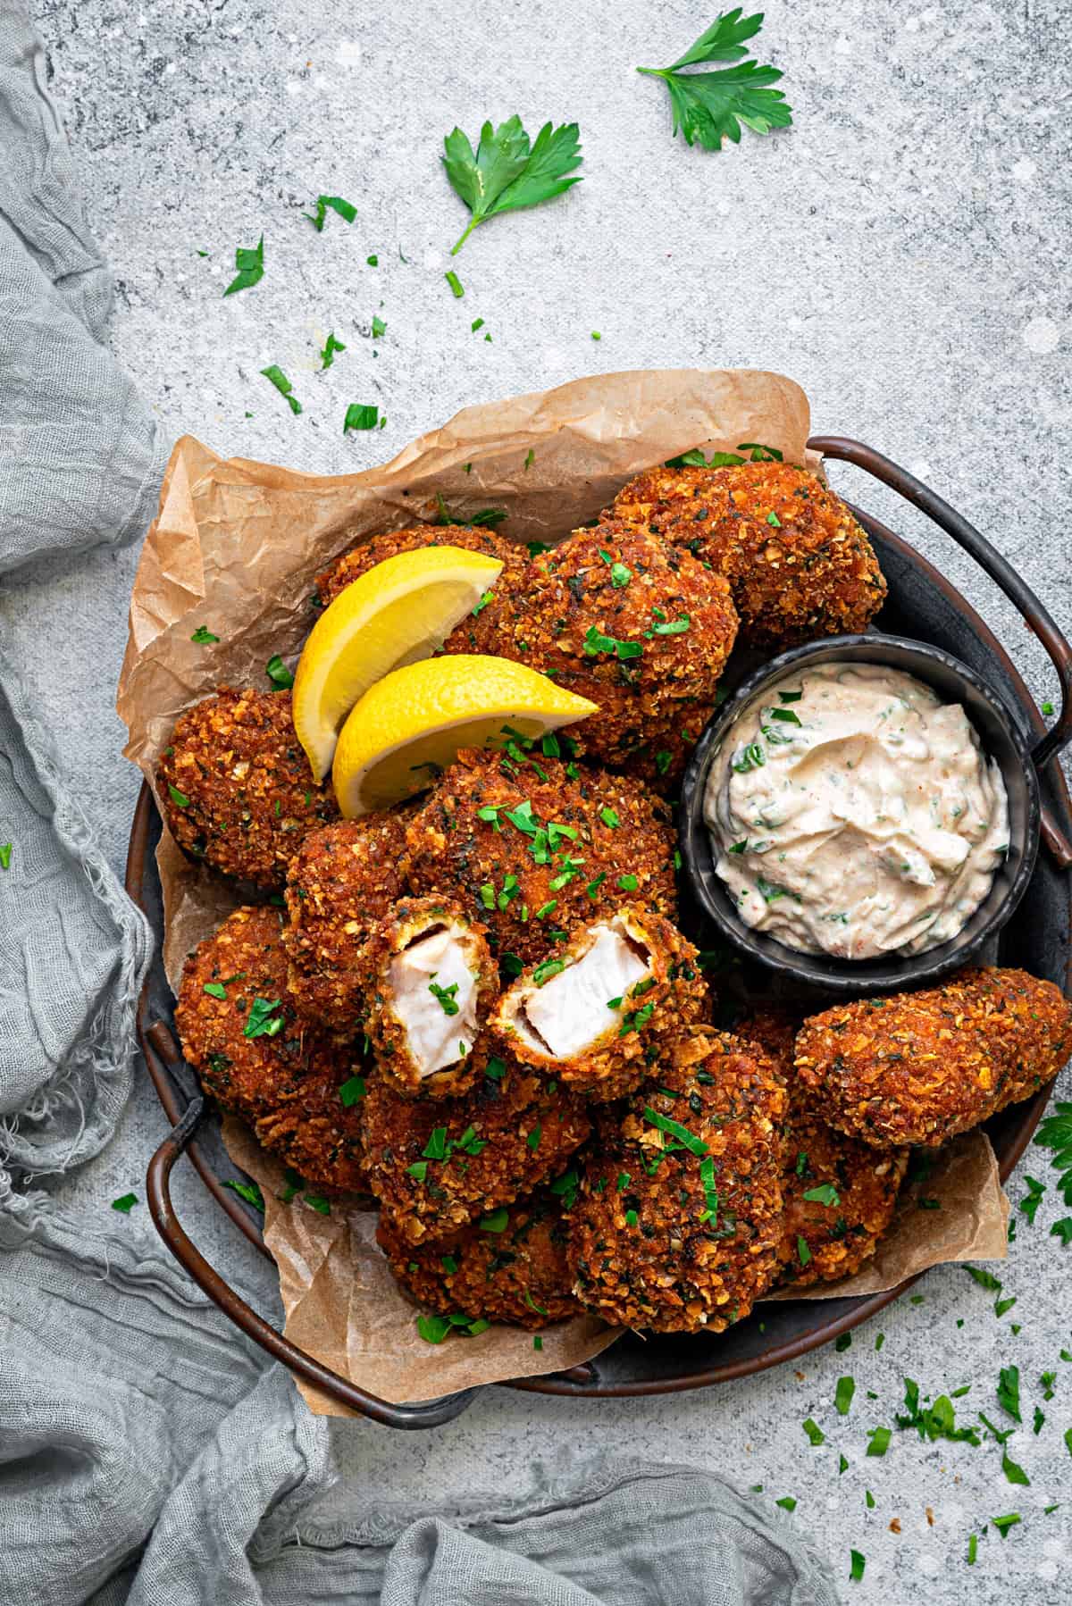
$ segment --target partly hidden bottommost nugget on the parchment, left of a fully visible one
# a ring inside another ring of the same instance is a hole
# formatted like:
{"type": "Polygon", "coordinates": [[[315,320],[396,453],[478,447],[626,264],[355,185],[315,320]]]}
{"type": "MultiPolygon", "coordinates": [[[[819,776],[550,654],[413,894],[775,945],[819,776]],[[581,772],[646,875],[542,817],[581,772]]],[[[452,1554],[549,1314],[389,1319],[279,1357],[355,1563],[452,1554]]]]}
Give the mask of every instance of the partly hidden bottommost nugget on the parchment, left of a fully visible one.
{"type": "Polygon", "coordinates": [[[437,1315],[535,1331],[577,1315],[566,1262],[563,1196],[537,1188],[442,1243],[418,1245],[381,1222],[376,1240],[405,1290],[437,1315]]]}

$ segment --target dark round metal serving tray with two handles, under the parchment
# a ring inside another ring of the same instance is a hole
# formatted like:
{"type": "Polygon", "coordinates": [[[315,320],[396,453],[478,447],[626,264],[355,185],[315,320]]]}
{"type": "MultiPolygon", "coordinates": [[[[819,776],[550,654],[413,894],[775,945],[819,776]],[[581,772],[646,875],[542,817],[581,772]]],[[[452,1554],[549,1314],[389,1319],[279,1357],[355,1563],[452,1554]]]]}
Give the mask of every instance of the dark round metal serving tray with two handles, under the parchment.
{"type": "MultiPolygon", "coordinates": [[[[1038,829],[1043,851],[1025,877],[1025,891],[1017,907],[1008,911],[1008,922],[1000,931],[995,925],[982,935],[972,957],[988,964],[1022,965],[1067,989],[1072,983],[1069,954],[1072,890],[1067,874],[1072,867],[1072,808],[1064,777],[1051,760],[1072,737],[1072,649],[1014,570],[926,485],[857,442],[816,437],[810,445],[828,458],[841,458],[868,471],[927,512],[1001,585],[1054,662],[1061,679],[1062,707],[1053,729],[1046,732],[1027,687],[982,618],[950,581],[900,536],[878,519],[858,507],[853,509],[874,544],[889,583],[887,602],[876,620],[878,630],[886,636],[910,638],[916,644],[937,649],[939,655],[948,655],[958,668],[968,670],[1003,710],[1013,745],[1019,744],[1027,752],[1032,742],[1035,744],[1032,758],[1038,776],[1038,829]]],[[[871,647],[881,636],[865,639],[871,647]]],[[[987,732],[982,734],[985,744],[987,732]]],[[[143,787],[130,834],[127,890],[149,915],[159,935],[162,909],[153,856],[158,835],[153,795],[143,787]]],[[[688,888],[681,920],[701,941],[710,933],[710,923],[704,923],[704,909],[689,909],[688,888]]],[[[771,986],[781,981],[768,964],[752,964],[747,957],[744,965],[734,967],[734,976],[744,981],[752,996],[760,997],[768,996],[771,986]]],[[[823,999],[829,999],[829,984],[816,988],[808,978],[794,976],[792,986],[797,989],[799,1002],[821,1007],[823,999]]],[[[235,1176],[235,1164],[223,1148],[219,1118],[203,1099],[198,1079],[175,1044],[172,1020],[174,997],[158,957],[140,1001],[138,1036],[149,1076],[170,1123],[170,1131],[154,1153],[146,1176],[153,1221],[167,1248],[243,1333],[289,1367],[296,1376],[323,1389],[341,1405],[394,1428],[431,1428],[456,1416],[476,1391],[411,1405],[392,1405],[370,1396],[286,1339],[241,1298],[191,1241],[175,1216],[169,1187],[170,1172],[183,1153],[190,1156],[219,1208],[262,1254],[268,1253],[260,1235],[260,1216],[223,1187],[223,1179],[235,1176]]],[[[1030,1142],[1048,1097],[1049,1089],[1043,1087],[1033,1099],[1011,1105],[987,1123],[1003,1179],[1009,1176],[1030,1142]]],[[[890,1304],[908,1286],[910,1283],[902,1283],[898,1288],[853,1299],[768,1302],[718,1335],[664,1335],[643,1339],[627,1333],[591,1362],[543,1378],[521,1378],[509,1386],[543,1394],[606,1397],[669,1394],[726,1383],[829,1343],[890,1304]]]]}

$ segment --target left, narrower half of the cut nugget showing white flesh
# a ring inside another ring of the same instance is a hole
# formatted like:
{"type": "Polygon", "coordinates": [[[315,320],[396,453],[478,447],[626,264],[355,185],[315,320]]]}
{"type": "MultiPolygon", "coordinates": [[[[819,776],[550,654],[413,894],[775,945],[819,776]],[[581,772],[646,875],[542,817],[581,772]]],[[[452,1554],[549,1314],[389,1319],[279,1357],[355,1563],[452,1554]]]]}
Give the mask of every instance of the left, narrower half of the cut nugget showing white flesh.
{"type": "Polygon", "coordinates": [[[374,928],[357,973],[365,1029],[395,1092],[464,1092],[487,1062],[481,1029],[498,997],[484,927],[447,898],[403,898],[374,928]]]}

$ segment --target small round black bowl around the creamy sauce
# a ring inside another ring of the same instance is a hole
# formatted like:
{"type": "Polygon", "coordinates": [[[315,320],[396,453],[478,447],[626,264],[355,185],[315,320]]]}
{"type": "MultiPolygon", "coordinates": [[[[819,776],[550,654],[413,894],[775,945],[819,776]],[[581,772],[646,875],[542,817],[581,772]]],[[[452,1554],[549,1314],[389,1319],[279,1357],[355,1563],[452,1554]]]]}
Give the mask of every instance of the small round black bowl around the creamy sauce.
{"type": "Polygon", "coordinates": [[[707,723],[681,782],[681,856],[693,893],[718,930],[749,959],[781,976],[826,988],[831,993],[881,993],[935,981],[968,964],[1009,919],[1024,896],[1038,856],[1038,777],[1027,739],[998,694],[974,670],[940,647],[903,636],[831,636],[771,658],[728,699],[707,723]],[[993,885],[968,923],[948,943],[921,954],[881,954],[876,959],[836,959],[786,948],[765,931],[746,925],[725,883],[715,874],[715,856],[704,822],[707,772],[744,705],[786,675],[820,663],[879,663],[931,686],[945,703],[961,703],[982,742],[984,753],[1001,771],[1009,803],[1009,851],[993,885]]]}

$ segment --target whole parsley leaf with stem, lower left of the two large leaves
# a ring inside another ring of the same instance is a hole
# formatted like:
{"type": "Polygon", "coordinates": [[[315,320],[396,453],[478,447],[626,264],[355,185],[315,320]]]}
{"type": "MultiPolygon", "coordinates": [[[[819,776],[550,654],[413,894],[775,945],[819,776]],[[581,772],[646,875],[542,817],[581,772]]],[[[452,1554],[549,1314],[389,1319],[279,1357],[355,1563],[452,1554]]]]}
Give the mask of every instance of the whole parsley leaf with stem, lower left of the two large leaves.
{"type": "Polygon", "coordinates": [[[447,178],[473,214],[468,228],[450,251],[452,257],[489,217],[538,206],[580,181],[580,173],[574,178],[566,177],[574,167],[580,167],[582,161],[580,132],[575,122],[558,128],[546,122],[535,145],[518,116],[498,128],[485,122],[476,153],[461,128],[453,128],[444,140],[444,151],[447,178]]]}

